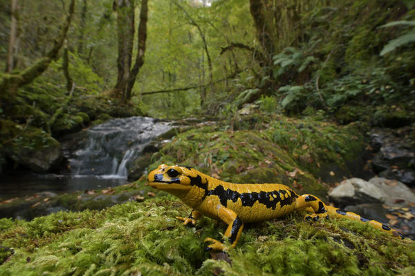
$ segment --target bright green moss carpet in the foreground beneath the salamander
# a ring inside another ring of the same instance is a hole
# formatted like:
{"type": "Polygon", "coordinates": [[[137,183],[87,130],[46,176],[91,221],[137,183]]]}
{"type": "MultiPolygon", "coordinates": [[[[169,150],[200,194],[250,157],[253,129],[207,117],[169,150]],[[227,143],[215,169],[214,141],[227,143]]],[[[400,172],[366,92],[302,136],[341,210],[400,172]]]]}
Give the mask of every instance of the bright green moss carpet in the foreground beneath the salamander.
{"type": "Polygon", "coordinates": [[[225,224],[203,217],[188,227],[174,218],[189,212],[167,196],[9,220],[0,246],[13,251],[3,257],[0,275],[212,275],[215,268],[224,275],[415,273],[411,240],[347,219],[311,223],[303,213],[246,225],[228,264],[203,250],[206,237],[222,238],[225,224]]]}

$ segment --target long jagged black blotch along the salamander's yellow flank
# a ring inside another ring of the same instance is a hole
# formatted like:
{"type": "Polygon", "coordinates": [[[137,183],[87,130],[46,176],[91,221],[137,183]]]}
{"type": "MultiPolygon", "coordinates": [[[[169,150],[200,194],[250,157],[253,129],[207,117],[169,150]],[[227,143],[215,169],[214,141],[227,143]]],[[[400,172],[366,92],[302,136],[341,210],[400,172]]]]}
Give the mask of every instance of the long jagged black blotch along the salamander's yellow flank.
{"type": "Polygon", "coordinates": [[[216,186],[213,190],[208,190],[207,195],[216,195],[219,197],[221,204],[226,207],[227,201],[232,200],[236,202],[241,199],[242,206],[254,206],[258,201],[260,204],[264,204],[266,208],[275,210],[279,202],[280,206],[291,205],[297,198],[297,195],[291,190],[273,190],[271,192],[251,192],[251,193],[239,193],[236,190],[226,189],[223,186],[216,186]],[[282,199],[281,195],[284,195],[282,199]],[[270,199],[272,197],[272,199],[270,199]]]}

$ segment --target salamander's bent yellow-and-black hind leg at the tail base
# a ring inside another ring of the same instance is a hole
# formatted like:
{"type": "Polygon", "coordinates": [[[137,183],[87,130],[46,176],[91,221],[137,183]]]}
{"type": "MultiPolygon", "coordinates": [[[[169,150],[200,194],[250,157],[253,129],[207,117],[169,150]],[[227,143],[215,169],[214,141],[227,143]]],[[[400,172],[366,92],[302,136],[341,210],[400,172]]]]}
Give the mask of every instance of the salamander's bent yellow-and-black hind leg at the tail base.
{"type": "Polygon", "coordinates": [[[306,215],[305,219],[313,219],[317,221],[322,217],[329,219],[327,213],[326,204],[321,199],[314,195],[301,195],[297,198],[297,204],[295,204],[295,210],[306,210],[310,215],[306,215]]]}

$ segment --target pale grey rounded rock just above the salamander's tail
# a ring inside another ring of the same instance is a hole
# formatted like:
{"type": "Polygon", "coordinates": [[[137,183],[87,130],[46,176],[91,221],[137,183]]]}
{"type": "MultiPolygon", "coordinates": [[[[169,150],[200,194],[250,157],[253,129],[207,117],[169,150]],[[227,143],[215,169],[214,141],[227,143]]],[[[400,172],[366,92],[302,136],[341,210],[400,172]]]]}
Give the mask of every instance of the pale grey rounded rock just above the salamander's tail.
{"type": "Polygon", "coordinates": [[[329,199],[338,206],[381,204],[386,198],[380,188],[360,178],[344,180],[329,193],[329,199]]]}

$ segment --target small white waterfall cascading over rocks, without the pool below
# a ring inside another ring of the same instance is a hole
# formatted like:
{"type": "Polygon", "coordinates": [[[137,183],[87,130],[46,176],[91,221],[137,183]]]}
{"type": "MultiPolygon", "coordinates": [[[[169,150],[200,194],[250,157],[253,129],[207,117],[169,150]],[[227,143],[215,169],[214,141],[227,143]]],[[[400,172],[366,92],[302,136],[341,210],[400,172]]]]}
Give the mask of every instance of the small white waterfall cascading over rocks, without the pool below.
{"type": "Polygon", "coordinates": [[[73,177],[128,177],[131,161],[140,156],[151,139],[171,127],[148,117],[113,119],[86,130],[68,159],[73,177]]]}

